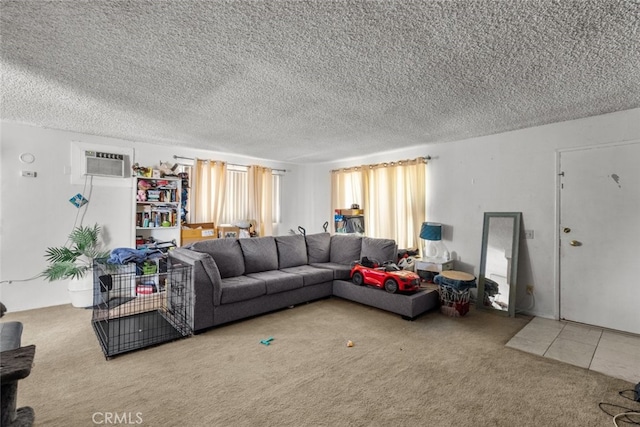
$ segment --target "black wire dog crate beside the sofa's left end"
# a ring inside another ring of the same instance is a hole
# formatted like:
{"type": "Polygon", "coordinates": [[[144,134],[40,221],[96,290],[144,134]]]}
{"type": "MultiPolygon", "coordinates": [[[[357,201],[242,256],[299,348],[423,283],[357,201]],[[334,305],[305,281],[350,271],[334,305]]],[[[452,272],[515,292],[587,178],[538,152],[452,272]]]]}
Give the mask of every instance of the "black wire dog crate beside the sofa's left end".
{"type": "Polygon", "coordinates": [[[108,359],[191,335],[191,266],[96,260],[92,325],[108,359]]]}

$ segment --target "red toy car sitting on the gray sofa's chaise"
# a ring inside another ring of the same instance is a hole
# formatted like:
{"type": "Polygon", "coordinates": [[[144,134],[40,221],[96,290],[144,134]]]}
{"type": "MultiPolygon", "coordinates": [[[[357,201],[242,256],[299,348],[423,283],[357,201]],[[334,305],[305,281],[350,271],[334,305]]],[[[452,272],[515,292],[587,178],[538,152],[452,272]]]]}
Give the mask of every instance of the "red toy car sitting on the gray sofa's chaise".
{"type": "Polygon", "coordinates": [[[385,291],[392,294],[420,290],[420,276],[413,271],[401,270],[393,263],[381,266],[366,258],[353,266],[351,280],[358,286],[371,285],[380,289],[384,288],[385,291]]]}

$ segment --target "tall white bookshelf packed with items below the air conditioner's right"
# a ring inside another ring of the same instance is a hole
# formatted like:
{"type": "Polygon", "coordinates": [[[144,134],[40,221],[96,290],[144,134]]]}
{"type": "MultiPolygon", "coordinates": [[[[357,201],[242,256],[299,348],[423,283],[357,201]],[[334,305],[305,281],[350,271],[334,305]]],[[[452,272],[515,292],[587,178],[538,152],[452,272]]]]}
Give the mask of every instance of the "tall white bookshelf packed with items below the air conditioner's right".
{"type": "Polygon", "coordinates": [[[135,177],[136,249],[180,245],[180,196],[178,178],[135,177]]]}

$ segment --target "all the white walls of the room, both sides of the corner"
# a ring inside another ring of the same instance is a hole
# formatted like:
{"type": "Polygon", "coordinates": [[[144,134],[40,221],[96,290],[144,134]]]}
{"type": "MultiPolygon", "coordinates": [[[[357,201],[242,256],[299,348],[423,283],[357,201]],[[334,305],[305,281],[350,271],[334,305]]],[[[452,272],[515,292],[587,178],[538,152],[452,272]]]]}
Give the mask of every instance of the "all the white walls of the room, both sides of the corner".
{"type": "MultiPolygon", "coordinates": [[[[76,208],[68,199],[82,191],[71,185],[64,166],[69,165],[71,141],[133,147],[135,161],[143,165],[172,161],[172,156],[202,157],[249,164],[251,159],[181,147],[134,143],[3,123],[1,129],[0,198],[0,299],[11,311],[66,304],[66,283],[41,279],[16,282],[44,268],[42,254],[48,246],[60,245],[72,228],[76,208]],[[36,161],[25,166],[18,156],[31,152],[36,161]],[[20,170],[34,170],[37,178],[22,178],[20,170]]],[[[520,211],[524,228],[535,232],[521,248],[518,306],[529,301],[524,287],[535,286],[533,314],[557,315],[555,279],[556,156],[557,150],[615,143],[640,138],[640,109],[588,119],[472,138],[443,144],[425,144],[410,149],[316,165],[258,163],[287,169],[283,182],[282,224],[274,234],[305,227],[308,233],[322,231],[332,213],[329,171],[338,167],[400,160],[430,155],[427,168],[427,218],[445,225],[444,239],[457,261],[456,268],[477,274],[486,211],[520,211]]],[[[130,246],[130,188],[97,187],[84,224],[105,225],[111,247],[130,246]]],[[[331,229],[331,228],[330,228],[331,229]]],[[[620,249],[620,248],[619,248],[620,249]]]]}

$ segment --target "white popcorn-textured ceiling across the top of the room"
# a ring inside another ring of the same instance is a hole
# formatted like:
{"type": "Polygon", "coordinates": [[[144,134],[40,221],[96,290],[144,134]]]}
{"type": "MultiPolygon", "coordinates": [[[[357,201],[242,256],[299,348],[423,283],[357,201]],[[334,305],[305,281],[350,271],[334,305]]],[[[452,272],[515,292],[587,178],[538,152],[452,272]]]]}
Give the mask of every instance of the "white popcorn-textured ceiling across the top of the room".
{"type": "Polygon", "coordinates": [[[640,0],[2,0],[2,118],[295,163],[640,106],[640,0]]]}

